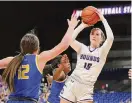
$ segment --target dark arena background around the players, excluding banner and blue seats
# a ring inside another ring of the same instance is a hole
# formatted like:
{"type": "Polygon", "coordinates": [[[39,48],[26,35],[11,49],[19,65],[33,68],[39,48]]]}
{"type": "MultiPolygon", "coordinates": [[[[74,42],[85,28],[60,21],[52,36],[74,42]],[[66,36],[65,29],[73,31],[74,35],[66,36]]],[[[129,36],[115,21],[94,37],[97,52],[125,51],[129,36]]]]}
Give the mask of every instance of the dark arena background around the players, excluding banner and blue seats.
{"type": "MultiPolygon", "coordinates": [[[[131,5],[131,1],[1,1],[0,59],[18,54],[16,51],[20,51],[19,42],[22,36],[33,28],[37,30],[41,51],[53,48],[64,36],[68,27],[67,19],[72,11],[88,5],[97,8],[116,7],[131,5]]],[[[130,92],[128,70],[131,68],[131,13],[105,15],[105,18],[113,30],[115,40],[96,82],[95,91],[130,92]]],[[[101,22],[95,27],[104,31],[101,22]]],[[[77,39],[88,45],[90,30],[91,28],[85,29],[77,39]]],[[[71,48],[64,53],[68,54],[74,70],[76,53],[71,48]]],[[[0,70],[0,74],[2,71],[0,70]]]]}

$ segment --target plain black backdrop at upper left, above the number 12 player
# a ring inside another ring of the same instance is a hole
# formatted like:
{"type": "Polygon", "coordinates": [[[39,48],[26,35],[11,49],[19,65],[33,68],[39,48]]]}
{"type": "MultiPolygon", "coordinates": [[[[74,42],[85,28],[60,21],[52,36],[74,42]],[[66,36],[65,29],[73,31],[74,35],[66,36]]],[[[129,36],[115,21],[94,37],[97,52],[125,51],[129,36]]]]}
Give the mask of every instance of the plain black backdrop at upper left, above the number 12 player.
{"type": "MultiPolygon", "coordinates": [[[[0,59],[16,55],[19,42],[29,30],[37,27],[41,51],[53,48],[67,30],[67,18],[74,9],[88,5],[106,7],[130,4],[130,1],[1,1],[0,59]]],[[[67,53],[71,58],[72,49],[67,53]]]]}

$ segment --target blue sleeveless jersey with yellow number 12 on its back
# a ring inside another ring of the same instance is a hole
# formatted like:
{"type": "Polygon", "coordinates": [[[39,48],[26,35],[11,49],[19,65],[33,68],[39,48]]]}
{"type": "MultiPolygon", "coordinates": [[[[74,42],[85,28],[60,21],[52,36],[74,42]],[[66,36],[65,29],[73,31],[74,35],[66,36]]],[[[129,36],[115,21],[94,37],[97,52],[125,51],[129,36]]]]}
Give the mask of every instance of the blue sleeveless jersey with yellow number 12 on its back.
{"type": "Polygon", "coordinates": [[[9,97],[28,97],[38,100],[41,79],[42,74],[37,66],[37,55],[25,55],[21,68],[14,77],[15,92],[9,97]]]}

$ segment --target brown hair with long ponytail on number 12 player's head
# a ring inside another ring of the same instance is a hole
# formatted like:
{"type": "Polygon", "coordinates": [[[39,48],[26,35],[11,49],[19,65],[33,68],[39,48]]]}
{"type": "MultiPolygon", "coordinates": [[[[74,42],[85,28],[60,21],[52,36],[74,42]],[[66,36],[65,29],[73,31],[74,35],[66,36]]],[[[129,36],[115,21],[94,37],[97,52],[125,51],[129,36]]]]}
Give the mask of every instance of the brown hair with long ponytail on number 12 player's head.
{"type": "Polygon", "coordinates": [[[2,74],[2,79],[8,84],[10,92],[14,92],[14,76],[21,66],[24,55],[32,54],[39,49],[39,39],[34,34],[24,35],[20,42],[21,53],[13,58],[2,74]]]}

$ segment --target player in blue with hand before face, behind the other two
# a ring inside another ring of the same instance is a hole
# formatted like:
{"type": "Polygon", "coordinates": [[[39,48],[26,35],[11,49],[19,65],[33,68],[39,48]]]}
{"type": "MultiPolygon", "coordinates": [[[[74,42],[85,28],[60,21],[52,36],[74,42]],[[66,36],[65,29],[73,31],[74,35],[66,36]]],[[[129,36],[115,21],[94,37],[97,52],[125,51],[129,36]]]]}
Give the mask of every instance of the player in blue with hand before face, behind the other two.
{"type": "MultiPolygon", "coordinates": [[[[71,70],[69,59],[66,54],[63,56],[59,55],[58,59],[59,62],[56,66],[55,71],[53,72],[53,81],[52,81],[50,95],[48,97],[49,103],[60,103],[59,95],[65,84],[67,74],[71,70]]],[[[49,78],[50,77],[48,75],[47,79],[49,80],[49,78]]]]}

